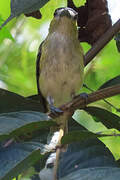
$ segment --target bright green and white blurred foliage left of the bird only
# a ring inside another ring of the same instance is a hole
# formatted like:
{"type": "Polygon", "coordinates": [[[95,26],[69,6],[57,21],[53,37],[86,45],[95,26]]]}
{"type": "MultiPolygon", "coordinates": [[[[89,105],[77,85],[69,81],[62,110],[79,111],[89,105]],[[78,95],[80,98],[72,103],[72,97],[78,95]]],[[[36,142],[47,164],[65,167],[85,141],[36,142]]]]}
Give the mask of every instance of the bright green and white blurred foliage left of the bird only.
{"type": "MultiPolygon", "coordinates": [[[[66,3],[65,0],[51,0],[41,9],[41,20],[21,15],[0,31],[0,40],[3,31],[7,32],[8,29],[14,38],[13,42],[10,40],[10,34],[7,34],[4,36],[4,41],[0,41],[0,80],[5,83],[8,90],[24,96],[37,92],[35,77],[37,50],[47,35],[54,10],[65,6],[66,3]]],[[[9,6],[10,1],[8,0],[0,2],[0,15],[4,20],[9,16],[9,6]]]]}

